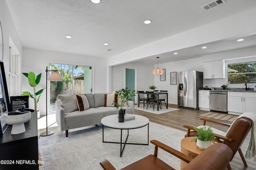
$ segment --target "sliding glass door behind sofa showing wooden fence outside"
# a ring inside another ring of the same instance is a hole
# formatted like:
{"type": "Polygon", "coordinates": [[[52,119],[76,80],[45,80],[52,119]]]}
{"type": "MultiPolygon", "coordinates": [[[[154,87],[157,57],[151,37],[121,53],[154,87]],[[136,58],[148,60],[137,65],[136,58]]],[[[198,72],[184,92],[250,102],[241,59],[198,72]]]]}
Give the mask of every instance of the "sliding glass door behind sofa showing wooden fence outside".
{"type": "Polygon", "coordinates": [[[92,92],[92,67],[70,64],[50,64],[50,70],[58,70],[62,82],[50,82],[50,112],[55,111],[58,94],[86,94],[92,92]]]}

